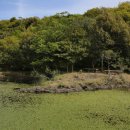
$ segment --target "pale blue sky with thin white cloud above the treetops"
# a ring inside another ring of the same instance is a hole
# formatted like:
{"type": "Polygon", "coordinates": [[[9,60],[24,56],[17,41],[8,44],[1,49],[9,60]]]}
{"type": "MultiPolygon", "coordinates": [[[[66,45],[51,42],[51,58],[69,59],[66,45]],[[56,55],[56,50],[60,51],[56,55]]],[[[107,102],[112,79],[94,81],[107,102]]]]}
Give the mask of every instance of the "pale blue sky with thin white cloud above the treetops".
{"type": "Polygon", "coordinates": [[[63,11],[83,14],[94,7],[116,7],[130,0],[0,0],[0,19],[44,17],[63,11]]]}

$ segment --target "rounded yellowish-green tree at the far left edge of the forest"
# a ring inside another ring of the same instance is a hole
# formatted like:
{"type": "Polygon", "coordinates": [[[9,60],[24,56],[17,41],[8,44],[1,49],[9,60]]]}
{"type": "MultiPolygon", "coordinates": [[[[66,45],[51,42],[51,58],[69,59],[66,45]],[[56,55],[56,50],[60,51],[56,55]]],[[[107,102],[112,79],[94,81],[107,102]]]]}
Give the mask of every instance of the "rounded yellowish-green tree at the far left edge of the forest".
{"type": "Polygon", "coordinates": [[[19,50],[19,39],[15,36],[0,40],[0,65],[6,70],[13,69],[16,65],[16,55],[19,50]]]}

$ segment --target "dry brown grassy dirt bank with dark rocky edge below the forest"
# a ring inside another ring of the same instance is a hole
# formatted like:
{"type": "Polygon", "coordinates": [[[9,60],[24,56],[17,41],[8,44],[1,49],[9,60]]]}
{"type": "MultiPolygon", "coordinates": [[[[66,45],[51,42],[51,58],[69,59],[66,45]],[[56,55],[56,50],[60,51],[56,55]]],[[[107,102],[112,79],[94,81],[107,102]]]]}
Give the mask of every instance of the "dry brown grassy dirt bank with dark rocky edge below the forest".
{"type": "Polygon", "coordinates": [[[101,73],[69,73],[56,76],[41,86],[33,88],[16,88],[24,93],[69,93],[96,91],[113,88],[130,88],[130,75],[107,75],[101,73]]]}

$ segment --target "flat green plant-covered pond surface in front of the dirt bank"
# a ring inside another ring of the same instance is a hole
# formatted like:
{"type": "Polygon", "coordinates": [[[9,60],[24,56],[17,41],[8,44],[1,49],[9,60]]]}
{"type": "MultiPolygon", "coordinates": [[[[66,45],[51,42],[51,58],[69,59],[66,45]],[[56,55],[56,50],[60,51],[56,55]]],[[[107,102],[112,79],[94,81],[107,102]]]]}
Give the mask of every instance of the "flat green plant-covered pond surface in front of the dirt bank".
{"type": "Polygon", "coordinates": [[[23,94],[0,84],[0,130],[129,130],[130,92],[23,94]]]}

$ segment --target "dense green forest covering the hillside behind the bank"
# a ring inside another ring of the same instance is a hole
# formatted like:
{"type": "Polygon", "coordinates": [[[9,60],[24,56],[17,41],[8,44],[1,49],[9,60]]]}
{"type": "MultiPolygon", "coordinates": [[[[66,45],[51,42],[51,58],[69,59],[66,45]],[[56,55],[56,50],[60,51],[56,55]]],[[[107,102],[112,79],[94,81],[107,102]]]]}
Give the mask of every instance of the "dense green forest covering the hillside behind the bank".
{"type": "Polygon", "coordinates": [[[1,71],[130,68],[130,3],[0,21],[1,71]]]}

